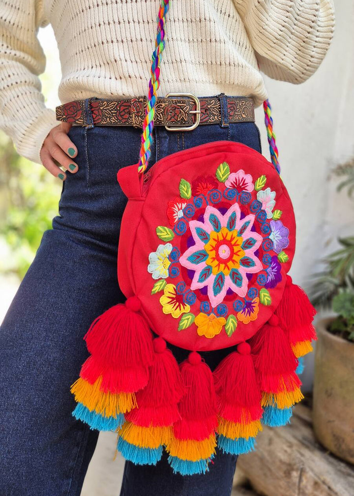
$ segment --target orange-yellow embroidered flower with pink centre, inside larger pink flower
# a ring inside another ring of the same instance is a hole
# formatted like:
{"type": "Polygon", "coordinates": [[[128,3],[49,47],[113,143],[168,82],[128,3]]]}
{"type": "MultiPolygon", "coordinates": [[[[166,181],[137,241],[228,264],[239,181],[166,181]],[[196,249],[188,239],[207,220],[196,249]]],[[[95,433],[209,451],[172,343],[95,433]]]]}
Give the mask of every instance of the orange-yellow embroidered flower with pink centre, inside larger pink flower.
{"type": "Polygon", "coordinates": [[[228,276],[231,269],[239,268],[239,261],[245,255],[242,243],[243,239],[237,236],[237,231],[229,231],[226,227],[218,233],[210,233],[210,240],[204,247],[209,255],[205,263],[212,267],[213,274],[223,272],[228,276]]]}

